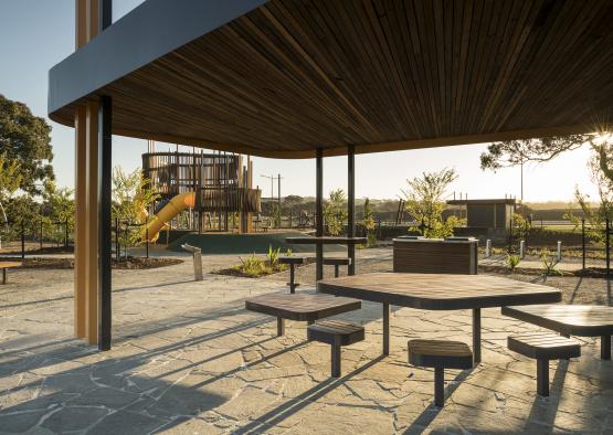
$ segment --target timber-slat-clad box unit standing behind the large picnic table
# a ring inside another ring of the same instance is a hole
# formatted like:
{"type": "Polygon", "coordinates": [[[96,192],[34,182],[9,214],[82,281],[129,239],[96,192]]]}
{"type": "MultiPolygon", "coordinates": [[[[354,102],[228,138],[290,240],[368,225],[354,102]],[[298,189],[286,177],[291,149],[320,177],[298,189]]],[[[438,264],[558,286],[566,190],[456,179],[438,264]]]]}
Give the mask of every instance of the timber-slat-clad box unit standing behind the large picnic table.
{"type": "Polygon", "coordinates": [[[395,238],[393,272],[477,274],[477,240],[395,238]]]}

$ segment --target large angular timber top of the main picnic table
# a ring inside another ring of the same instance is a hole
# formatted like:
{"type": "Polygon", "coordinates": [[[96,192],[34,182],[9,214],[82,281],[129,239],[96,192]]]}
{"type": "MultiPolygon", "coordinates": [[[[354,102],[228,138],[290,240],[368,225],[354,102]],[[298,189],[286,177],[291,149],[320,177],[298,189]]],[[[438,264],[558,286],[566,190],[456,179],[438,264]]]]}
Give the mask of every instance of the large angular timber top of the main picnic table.
{"type": "Polygon", "coordinates": [[[320,293],[401,307],[447,310],[558,303],[562,293],[490,275],[370,273],[317,283],[320,293]]]}

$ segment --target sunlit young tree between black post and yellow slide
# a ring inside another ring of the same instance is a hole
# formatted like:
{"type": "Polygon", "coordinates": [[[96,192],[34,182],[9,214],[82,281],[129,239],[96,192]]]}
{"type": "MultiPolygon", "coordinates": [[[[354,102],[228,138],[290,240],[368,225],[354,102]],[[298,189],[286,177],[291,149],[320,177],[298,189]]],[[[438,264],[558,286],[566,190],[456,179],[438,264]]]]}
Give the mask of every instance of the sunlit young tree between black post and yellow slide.
{"type": "Polygon", "coordinates": [[[113,219],[118,219],[126,231],[120,232],[121,244],[136,244],[140,241],[144,227],[137,226],[145,223],[147,208],[159,195],[151,188],[150,180],[142,177],[142,171],[137,169],[126,173],[121,167],[113,169],[113,219]]]}

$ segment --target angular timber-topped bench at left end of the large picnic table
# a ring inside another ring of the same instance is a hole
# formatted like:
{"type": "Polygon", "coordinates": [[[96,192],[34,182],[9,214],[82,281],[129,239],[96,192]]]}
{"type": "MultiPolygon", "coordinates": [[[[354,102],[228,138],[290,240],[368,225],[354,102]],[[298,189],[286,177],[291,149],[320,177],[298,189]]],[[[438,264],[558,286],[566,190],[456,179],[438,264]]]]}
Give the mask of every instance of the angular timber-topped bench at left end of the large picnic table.
{"type": "Polygon", "coordinates": [[[277,318],[277,336],[285,333],[285,320],[315,320],[360,309],[359,299],[321,294],[269,294],[245,300],[250,311],[262,312],[277,318]]]}

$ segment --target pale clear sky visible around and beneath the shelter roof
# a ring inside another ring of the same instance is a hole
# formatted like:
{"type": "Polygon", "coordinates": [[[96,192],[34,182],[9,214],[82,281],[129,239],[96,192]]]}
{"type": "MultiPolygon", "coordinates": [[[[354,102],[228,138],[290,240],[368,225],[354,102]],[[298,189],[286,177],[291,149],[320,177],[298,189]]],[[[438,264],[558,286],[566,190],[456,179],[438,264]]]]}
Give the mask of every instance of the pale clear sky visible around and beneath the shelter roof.
{"type": "MultiPolygon", "coordinates": [[[[114,0],[113,18],[119,19],[141,0],[114,0]]],[[[74,132],[46,117],[47,72],[74,51],[74,0],[0,0],[0,94],[25,103],[36,116],[51,124],[53,166],[60,185],[74,185],[74,132]]],[[[158,150],[175,146],[158,144],[158,150]]],[[[448,194],[469,199],[520,198],[520,170],[509,168],[482,171],[479,155],[487,144],[370,153],[356,156],[356,195],[395,199],[406,180],[422,172],[454,168],[457,180],[448,194]]],[[[186,151],[191,147],[186,148],[186,151]]],[[[114,136],[114,166],[134,170],[141,165],[147,142],[114,136]]],[[[524,170],[524,199],[527,202],[571,201],[575,185],[594,197],[595,187],[586,170],[588,148],[568,152],[524,170]]],[[[282,195],[315,195],[315,161],[254,158],[254,184],[268,197],[271,182],[262,176],[281,174],[282,195]]],[[[324,191],[347,185],[347,159],[326,158],[324,191]]],[[[277,194],[276,185],[274,194],[277,194]]]]}

